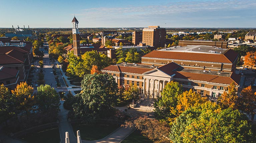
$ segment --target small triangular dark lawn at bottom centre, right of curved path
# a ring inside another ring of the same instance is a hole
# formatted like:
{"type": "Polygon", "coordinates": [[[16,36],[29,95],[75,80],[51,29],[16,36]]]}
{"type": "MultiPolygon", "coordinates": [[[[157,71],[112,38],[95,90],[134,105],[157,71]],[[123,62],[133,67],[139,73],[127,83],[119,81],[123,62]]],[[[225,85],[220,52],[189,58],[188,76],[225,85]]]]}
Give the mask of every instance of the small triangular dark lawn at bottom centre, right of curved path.
{"type": "Polygon", "coordinates": [[[153,143],[153,141],[143,136],[140,133],[140,131],[135,130],[127,138],[125,138],[121,143],[153,143]]]}

